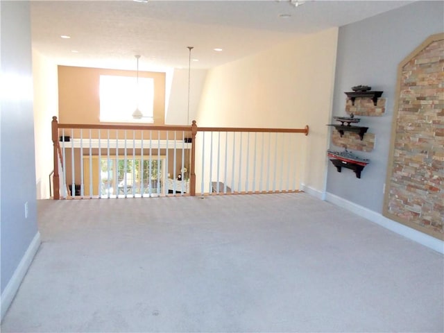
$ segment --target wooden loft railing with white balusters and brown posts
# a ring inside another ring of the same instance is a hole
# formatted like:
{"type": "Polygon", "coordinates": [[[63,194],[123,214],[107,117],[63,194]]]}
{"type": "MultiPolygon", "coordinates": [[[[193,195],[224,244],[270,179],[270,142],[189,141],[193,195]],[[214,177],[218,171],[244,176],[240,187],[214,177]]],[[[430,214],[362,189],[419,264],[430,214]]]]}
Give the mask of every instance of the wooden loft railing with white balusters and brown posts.
{"type": "Polygon", "coordinates": [[[53,117],[51,128],[54,200],[159,194],[196,196],[196,189],[200,189],[200,195],[298,191],[300,180],[293,173],[300,169],[298,157],[302,141],[296,136],[309,133],[308,126],[199,128],[196,121],[191,126],[87,125],[58,123],[57,117],[53,117]],[[95,134],[92,135],[92,132],[95,134]],[[129,138],[127,132],[130,133],[129,138]],[[93,166],[94,157],[105,165],[112,164],[114,176],[110,176],[109,170],[107,175],[97,162],[93,166]],[[164,169],[161,169],[160,161],[165,164],[164,169]],[[77,164],[80,167],[76,167],[77,164]],[[136,164],[142,164],[142,169],[135,170],[136,164]],[[149,167],[145,168],[146,165],[149,167]],[[117,170],[119,166],[121,169],[117,170]],[[133,169],[128,169],[131,166],[133,169]],[[157,171],[153,170],[156,167],[157,171]],[[84,178],[85,169],[89,169],[89,179],[84,178]],[[99,177],[99,185],[97,180],[93,184],[92,169],[96,178],[99,177]],[[119,190],[115,181],[118,172],[123,174],[123,178],[119,178],[122,183],[119,190]],[[155,181],[152,181],[152,175],[162,175],[162,180],[167,180],[168,184],[155,176],[155,181]],[[114,178],[112,188],[110,178],[114,178]],[[137,182],[140,179],[142,185],[137,182]],[[105,188],[102,180],[108,182],[105,188]],[[67,186],[69,183],[71,188],[67,186]],[[77,184],[80,185],[80,193],[77,184]],[[162,193],[159,191],[160,184],[163,186],[162,193]]]}

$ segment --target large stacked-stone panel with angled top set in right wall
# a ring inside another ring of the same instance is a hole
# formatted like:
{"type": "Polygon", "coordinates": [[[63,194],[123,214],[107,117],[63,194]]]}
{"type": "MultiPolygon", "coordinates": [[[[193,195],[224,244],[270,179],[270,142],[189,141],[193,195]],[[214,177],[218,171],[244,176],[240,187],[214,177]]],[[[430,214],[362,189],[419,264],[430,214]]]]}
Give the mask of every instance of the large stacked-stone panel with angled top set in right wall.
{"type": "MultiPolygon", "coordinates": [[[[444,239],[444,40],[402,67],[388,213],[444,239]]],[[[390,171],[389,171],[390,172],[390,171]]]]}

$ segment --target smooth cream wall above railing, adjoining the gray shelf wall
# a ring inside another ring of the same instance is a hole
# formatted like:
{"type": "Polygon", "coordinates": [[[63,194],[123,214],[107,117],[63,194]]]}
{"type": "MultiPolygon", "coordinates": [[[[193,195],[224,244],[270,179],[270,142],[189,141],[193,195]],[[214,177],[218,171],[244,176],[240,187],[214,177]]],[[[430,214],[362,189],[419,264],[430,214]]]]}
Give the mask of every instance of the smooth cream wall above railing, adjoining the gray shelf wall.
{"type": "Polygon", "coordinates": [[[210,69],[198,126],[303,128],[302,182],[325,191],[338,29],[304,35],[262,53],[210,69]]]}

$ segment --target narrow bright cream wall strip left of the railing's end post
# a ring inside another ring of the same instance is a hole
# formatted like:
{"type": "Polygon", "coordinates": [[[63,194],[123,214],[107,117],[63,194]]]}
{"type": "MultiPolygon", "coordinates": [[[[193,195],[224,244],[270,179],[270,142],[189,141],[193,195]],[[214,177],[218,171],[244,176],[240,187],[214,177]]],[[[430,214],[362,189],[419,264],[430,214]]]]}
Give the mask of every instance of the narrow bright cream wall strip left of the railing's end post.
{"type": "Polygon", "coordinates": [[[37,199],[49,198],[53,170],[51,117],[58,116],[57,65],[33,51],[35,180],[37,199]]]}

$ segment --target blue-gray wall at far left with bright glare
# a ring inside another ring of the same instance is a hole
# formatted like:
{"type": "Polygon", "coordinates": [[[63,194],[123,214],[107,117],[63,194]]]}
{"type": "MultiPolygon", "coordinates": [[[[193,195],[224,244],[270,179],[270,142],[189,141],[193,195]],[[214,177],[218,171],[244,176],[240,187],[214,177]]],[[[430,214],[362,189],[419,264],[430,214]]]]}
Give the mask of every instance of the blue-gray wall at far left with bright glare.
{"type": "Polygon", "coordinates": [[[0,219],[1,293],[37,233],[28,1],[0,1],[1,94],[0,219]],[[3,91],[4,92],[4,91],[3,91]],[[3,93],[2,92],[2,93],[3,93]],[[24,204],[28,202],[28,219],[24,204]]]}

